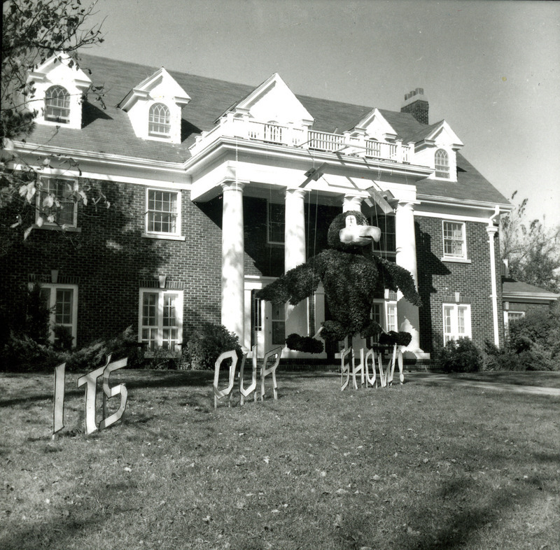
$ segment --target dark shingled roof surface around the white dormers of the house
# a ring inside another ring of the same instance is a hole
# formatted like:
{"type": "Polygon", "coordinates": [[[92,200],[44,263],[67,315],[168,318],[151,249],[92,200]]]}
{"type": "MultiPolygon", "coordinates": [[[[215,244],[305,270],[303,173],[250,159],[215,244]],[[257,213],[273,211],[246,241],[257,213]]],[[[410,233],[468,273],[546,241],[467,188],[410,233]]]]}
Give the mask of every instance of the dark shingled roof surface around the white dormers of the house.
{"type": "MultiPolygon", "coordinates": [[[[232,105],[248,97],[254,86],[231,83],[216,78],[195,76],[169,71],[169,75],[183,90],[188,90],[191,100],[183,108],[181,143],[165,143],[138,138],[134,134],[127,113],[118,108],[119,102],[138,83],[151,78],[157,68],[136,63],[118,61],[105,57],[82,54],[80,66],[92,71],[95,85],[104,85],[106,110],[95,102],[83,104],[82,129],[60,127],[55,136],[52,127],[36,125],[28,137],[29,143],[49,143],[61,148],[92,151],[94,153],[116,153],[146,160],[184,162],[190,157],[189,147],[195,137],[211,130],[215,121],[232,105]]],[[[314,118],[313,129],[334,132],[347,128],[352,121],[362,120],[372,111],[371,106],[360,106],[341,101],[330,101],[318,97],[295,94],[302,106],[314,118]]],[[[435,125],[422,125],[409,113],[379,109],[379,113],[395,132],[397,139],[405,143],[416,134],[429,132],[435,125]]],[[[437,125],[438,123],[436,123],[437,125]]],[[[447,199],[476,199],[480,202],[508,204],[507,199],[486,181],[461,155],[457,155],[458,181],[423,180],[417,183],[419,195],[446,197],[447,199]]]]}

